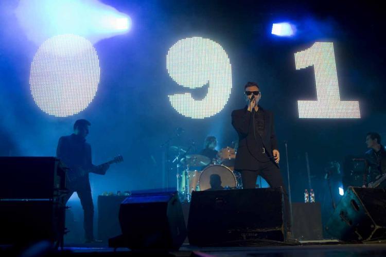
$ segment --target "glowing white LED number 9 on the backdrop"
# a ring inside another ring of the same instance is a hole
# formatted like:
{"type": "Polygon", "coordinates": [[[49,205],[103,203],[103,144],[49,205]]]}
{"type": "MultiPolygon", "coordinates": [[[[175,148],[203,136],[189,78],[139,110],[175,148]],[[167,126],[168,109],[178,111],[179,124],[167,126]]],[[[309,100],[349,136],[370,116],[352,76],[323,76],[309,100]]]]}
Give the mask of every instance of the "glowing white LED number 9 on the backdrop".
{"type": "Polygon", "coordinates": [[[180,86],[191,89],[209,83],[208,93],[195,100],[190,93],[169,96],[176,111],[192,119],[204,119],[219,113],[232,89],[232,69],[224,49],[210,39],[199,37],[178,41],[168,51],[166,68],[180,86]]]}

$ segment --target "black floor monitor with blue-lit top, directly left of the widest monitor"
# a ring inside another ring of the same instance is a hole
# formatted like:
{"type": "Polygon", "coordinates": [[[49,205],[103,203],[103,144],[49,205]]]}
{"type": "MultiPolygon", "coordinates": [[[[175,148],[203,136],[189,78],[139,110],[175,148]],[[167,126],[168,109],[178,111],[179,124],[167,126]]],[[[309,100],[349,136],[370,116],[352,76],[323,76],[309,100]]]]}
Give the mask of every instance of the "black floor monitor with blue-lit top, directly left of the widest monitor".
{"type": "Polygon", "coordinates": [[[177,192],[133,192],[120,205],[119,223],[121,242],[133,250],[179,249],[186,238],[177,192]]]}

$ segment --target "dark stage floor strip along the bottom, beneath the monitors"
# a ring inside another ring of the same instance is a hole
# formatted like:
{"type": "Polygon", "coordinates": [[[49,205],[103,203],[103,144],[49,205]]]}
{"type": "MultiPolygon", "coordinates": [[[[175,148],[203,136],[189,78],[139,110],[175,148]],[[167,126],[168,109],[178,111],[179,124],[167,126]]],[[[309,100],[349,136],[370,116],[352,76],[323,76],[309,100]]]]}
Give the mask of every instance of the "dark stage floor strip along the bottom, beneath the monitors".
{"type": "MultiPolygon", "coordinates": [[[[1,253],[1,252],[0,252],[1,253]]],[[[192,247],[184,244],[178,251],[130,251],[108,248],[103,244],[66,245],[52,255],[77,256],[384,256],[385,242],[367,244],[343,243],[334,240],[304,241],[300,245],[192,247]]]]}

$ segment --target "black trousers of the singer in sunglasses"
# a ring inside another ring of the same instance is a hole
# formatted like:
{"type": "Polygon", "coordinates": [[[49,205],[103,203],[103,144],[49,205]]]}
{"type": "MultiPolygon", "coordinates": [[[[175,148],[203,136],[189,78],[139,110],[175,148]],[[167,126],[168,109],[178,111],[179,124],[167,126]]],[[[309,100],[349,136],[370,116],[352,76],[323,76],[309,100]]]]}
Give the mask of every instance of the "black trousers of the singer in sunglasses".
{"type": "Polygon", "coordinates": [[[261,162],[257,170],[239,170],[242,180],[242,188],[256,188],[256,179],[260,175],[264,178],[271,188],[282,187],[284,191],[284,211],[286,216],[287,230],[291,231],[290,207],[286,188],[284,187],[283,177],[280,169],[273,161],[261,162]]]}

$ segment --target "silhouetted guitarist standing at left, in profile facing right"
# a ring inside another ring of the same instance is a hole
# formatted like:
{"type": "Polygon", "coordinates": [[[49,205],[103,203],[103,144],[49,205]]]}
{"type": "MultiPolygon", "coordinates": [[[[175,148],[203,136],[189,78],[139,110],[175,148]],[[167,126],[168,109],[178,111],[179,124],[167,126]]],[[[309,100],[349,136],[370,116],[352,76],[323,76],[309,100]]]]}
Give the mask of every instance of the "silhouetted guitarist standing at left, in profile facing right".
{"type": "Polygon", "coordinates": [[[67,203],[71,195],[77,192],[84,211],[83,228],[86,243],[97,242],[93,232],[94,204],[89,172],[104,175],[110,167],[109,163],[101,166],[94,166],[92,163],[91,146],[86,143],[90,125],[91,123],[87,120],[77,120],[74,124],[74,133],[61,137],[57,148],[57,157],[69,168],[66,177],[66,187],[69,193],[65,202],[67,203]]]}

